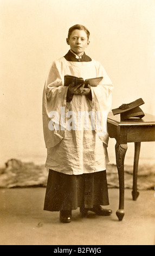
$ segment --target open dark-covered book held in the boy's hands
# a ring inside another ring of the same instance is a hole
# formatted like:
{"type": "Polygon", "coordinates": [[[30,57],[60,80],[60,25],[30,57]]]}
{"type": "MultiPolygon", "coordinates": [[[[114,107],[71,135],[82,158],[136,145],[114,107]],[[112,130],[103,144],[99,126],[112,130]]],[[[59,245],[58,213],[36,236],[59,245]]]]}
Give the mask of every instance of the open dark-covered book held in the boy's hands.
{"type": "Polygon", "coordinates": [[[85,87],[87,87],[87,84],[90,86],[98,86],[98,84],[101,82],[101,80],[104,77],[95,77],[95,78],[89,78],[85,81],[82,77],[76,77],[76,76],[70,76],[66,75],[64,76],[64,86],[69,86],[70,83],[74,83],[74,86],[78,86],[78,84],[85,84],[85,87]]]}

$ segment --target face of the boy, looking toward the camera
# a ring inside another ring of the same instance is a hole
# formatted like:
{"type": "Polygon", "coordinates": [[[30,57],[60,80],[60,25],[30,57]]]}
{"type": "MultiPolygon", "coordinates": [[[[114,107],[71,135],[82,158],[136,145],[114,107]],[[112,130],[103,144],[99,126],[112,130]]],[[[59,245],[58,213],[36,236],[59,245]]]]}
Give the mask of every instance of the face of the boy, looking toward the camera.
{"type": "Polygon", "coordinates": [[[89,45],[86,32],[84,30],[75,29],[69,36],[69,39],[67,38],[67,44],[70,45],[70,49],[80,57],[85,51],[85,48],[89,45]]]}

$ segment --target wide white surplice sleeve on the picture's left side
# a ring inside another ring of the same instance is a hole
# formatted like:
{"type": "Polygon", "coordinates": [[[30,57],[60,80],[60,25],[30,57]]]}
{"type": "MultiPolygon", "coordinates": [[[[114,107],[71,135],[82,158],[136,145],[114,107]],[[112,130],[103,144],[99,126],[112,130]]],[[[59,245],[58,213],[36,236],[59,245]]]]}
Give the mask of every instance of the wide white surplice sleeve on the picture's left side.
{"type": "Polygon", "coordinates": [[[42,114],[46,148],[54,147],[64,137],[64,129],[60,127],[61,110],[65,107],[67,111],[69,103],[66,102],[68,88],[63,86],[63,77],[63,63],[53,62],[43,90],[42,114]]]}

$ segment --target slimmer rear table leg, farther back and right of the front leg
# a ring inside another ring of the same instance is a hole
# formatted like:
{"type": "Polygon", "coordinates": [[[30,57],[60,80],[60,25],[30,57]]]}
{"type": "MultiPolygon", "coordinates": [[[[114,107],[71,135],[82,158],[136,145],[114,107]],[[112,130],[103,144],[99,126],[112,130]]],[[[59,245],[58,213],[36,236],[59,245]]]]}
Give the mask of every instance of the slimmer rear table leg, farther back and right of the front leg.
{"type": "Polygon", "coordinates": [[[140,145],[141,145],[140,142],[135,142],[134,168],[133,168],[133,191],[132,191],[132,197],[134,201],[136,201],[139,196],[139,192],[137,191],[137,175],[138,175],[140,145]]]}

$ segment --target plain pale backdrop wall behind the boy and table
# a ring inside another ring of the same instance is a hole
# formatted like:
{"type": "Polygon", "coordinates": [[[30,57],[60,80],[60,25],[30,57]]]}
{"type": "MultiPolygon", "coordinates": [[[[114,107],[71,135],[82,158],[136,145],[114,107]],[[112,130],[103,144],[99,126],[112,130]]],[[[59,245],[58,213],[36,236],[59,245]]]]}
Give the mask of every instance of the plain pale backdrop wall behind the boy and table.
{"type": "MultiPolygon", "coordinates": [[[[0,165],[15,157],[44,163],[42,91],[51,62],[69,50],[69,27],[91,32],[86,53],[104,65],[115,86],[112,108],[137,100],[155,114],[154,0],[0,0],[0,165]]],[[[109,158],[115,162],[115,140],[109,158]]],[[[133,144],[126,162],[133,161],[133,144]]],[[[153,162],[155,143],[141,145],[153,162]]]]}

